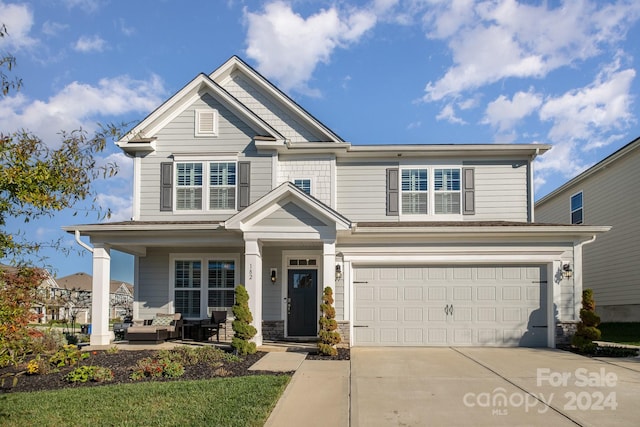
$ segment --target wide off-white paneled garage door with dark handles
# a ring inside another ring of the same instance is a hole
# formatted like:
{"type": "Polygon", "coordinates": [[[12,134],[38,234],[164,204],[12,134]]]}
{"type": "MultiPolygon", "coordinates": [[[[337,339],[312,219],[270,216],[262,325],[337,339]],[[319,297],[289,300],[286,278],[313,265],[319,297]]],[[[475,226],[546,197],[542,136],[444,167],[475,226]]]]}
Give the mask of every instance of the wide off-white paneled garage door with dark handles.
{"type": "Polygon", "coordinates": [[[547,345],[546,268],[354,268],[358,346],[547,345]]]}

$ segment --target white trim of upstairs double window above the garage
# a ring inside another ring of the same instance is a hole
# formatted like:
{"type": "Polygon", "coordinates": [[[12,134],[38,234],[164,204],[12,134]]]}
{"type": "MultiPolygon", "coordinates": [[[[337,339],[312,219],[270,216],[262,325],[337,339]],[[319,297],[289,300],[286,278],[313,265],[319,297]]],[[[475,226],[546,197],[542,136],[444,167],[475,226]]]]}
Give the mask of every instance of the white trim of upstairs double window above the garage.
{"type": "Polygon", "coordinates": [[[404,161],[398,166],[398,203],[399,203],[399,219],[401,221],[460,221],[462,215],[462,163],[437,163],[437,162],[420,162],[420,161],[404,161]],[[426,214],[407,214],[402,212],[402,171],[405,169],[427,169],[427,213],[426,214]],[[435,170],[436,169],[458,169],[460,170],[460,213],[459,214],[436,214],[435,213],[435,170]]]}

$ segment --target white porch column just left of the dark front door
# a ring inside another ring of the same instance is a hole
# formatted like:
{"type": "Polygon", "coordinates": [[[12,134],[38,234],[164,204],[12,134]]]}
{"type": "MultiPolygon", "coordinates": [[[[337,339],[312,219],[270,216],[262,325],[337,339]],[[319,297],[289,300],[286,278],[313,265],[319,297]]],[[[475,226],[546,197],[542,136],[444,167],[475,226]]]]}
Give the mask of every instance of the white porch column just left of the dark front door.
{"type": "Polygon", "coordinates": [[[258,240],[245,242],[244,286],[249,293],[249,309],[257,331],[253,341],[262,345],[262,244],[258,240]]]}

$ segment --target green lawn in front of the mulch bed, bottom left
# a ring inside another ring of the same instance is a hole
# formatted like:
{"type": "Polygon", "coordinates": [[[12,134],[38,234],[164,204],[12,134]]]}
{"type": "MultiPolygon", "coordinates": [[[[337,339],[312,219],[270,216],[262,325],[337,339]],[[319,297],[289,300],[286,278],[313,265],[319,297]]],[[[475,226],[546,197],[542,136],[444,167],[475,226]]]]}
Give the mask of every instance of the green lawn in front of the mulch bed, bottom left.
{"type": "Polygon", "coordinates": [[[289,376],[121,384],[0,395],[3,426],[262,426],[289,376]]]}

